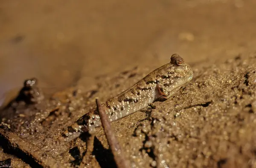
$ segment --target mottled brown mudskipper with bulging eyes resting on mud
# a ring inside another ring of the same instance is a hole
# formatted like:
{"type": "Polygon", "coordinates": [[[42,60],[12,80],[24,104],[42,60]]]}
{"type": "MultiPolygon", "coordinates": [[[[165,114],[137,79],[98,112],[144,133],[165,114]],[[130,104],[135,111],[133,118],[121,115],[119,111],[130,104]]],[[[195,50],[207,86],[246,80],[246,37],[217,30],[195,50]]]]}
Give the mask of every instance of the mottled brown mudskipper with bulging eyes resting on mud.
{"type": "MultiPolygon", "coordinates": [[[[183,85],[192,80],[193,71],[178,55],[173,54],[171,62],[152,71],[135,85],[102,104],[109,120],[115,121],[134,113],[163,97],[168,99],[183,85]]],[[[67,141],[78,137],[81,132],[93,132],[101,125],[97,109],[90,111],[71,125],[64,135],[67,141]]]]}

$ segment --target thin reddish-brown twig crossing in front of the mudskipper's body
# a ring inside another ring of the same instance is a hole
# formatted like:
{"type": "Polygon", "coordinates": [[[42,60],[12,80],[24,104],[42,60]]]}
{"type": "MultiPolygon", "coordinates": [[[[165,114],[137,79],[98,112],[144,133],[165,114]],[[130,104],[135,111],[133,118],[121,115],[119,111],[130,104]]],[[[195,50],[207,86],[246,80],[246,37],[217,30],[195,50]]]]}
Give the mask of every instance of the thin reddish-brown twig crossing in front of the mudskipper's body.
{"type": "Polygon", "coordinates": [[[108,140],[108,144],[113,153],[114,159],[116,161],[116,165],[118,168],[131,168],[130,162],[125,159],[121,147],[119,145],[118,140],[116,139],[115,133],[111,128],[110,121],[108,115],[102,108],[102,105],[99,103],[99,100],[96,99],[97,110],[99,112],[99,117],[102,122],[102,127],[104,129],[105,135],[108,140]]]}

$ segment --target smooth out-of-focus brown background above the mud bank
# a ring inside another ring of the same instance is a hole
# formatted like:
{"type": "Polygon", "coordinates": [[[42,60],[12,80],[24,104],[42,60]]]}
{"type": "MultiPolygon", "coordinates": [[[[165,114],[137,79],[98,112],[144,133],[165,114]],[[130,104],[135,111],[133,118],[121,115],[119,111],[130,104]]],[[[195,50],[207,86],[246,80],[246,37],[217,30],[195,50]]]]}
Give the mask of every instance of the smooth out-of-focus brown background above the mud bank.
{"type": "Polygon", "coordinates": [[[0,105],[37,77],[47,93],[173,53],[192,65],[255,52],[255,0],[0,0],[0,105]]]}

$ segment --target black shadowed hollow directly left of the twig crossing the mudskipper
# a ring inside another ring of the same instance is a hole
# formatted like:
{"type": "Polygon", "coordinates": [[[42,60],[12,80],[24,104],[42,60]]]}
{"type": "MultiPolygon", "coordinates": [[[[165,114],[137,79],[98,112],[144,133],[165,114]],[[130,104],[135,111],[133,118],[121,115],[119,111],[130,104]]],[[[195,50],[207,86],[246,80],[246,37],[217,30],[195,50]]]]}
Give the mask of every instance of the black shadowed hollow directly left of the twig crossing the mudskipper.
{"type": "Polygon", "coordinates": [[[110,149],[103,147],[102,143],[95,137],[92,154],[95,155],[101,168],[117,168],[113,154],[110,149]]]}

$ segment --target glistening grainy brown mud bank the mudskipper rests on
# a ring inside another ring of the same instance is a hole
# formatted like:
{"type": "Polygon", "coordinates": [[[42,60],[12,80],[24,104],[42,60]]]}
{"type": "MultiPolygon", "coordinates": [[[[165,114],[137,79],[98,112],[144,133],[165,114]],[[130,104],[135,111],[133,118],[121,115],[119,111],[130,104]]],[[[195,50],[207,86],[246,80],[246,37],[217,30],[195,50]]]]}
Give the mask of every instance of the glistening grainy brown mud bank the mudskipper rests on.
{"type": "MultiPolygon", "coordinates": [[[[255,54],[193,64],[193,80],[170,99],[112,123],[125,157],[134,168],[255,167],[255,67],[255,54]]],[[[11,152],[32,167],[79,166],[87,134],[55,144],[61,131],[95,107],[95,98],[106,101],[150,71],[136,67],[97,77],[98,84],[88,90],[76,86],[40,104],[18,103],[1,111],[3,147],[10,147],[2,154],[11,152]]],[[[92,155],[88,167],[115,165],[102,128],[97,128],[92,155]]]]}

